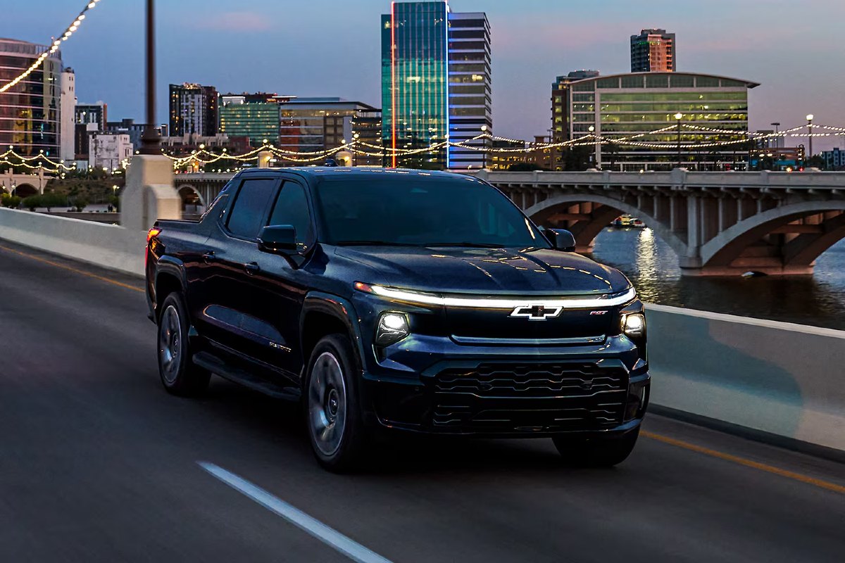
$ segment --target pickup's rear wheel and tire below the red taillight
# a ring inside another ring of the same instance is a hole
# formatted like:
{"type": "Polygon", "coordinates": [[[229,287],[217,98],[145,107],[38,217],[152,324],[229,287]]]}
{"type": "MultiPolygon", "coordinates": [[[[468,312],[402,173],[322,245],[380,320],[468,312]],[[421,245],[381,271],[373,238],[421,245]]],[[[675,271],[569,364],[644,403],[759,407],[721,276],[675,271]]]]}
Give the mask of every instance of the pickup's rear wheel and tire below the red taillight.
{"type": "Polygon", "coordinates": [[[161,383],[167,392],[193,397],[209,385],[209,371],[194,365],[188,339],[188,312],[181,293],[167,295],[158,318],[158,365],[161,383]]]}

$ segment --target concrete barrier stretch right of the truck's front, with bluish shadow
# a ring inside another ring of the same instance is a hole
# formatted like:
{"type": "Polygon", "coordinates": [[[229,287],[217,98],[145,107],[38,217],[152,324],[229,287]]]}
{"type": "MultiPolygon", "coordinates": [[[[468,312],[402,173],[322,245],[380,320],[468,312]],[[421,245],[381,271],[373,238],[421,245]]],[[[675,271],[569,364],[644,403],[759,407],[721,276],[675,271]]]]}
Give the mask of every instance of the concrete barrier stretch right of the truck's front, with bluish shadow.
{"type": "Polygon", "coordinates": [[[646,311],[652,403],[845,451],[845,332],[646,311]]]}

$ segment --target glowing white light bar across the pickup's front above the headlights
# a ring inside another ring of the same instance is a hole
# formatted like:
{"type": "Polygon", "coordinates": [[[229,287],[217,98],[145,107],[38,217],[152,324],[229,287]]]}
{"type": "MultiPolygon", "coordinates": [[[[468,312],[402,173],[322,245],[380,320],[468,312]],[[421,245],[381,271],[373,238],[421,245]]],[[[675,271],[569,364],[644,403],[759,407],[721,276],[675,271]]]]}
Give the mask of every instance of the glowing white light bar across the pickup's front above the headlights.
{"type": "Polygon", "coordinates": [[[602,307],[615,307],[624,305],[636,297],[636,290],[632,287],[623,294],[610,295],[604,298],[569,298],[569,299],[548,299],[538,297],[537,299],[495,299],[489,297],[443,297],[431,293],[400,290],[383,285],[355,283],[355,289],[365,293],[372,293],[380,297],[387,297],[406,303],[417,303],[420,305],[439,305],[444,307],[469,307],[475,309],[504,309],[511,310],[516,307],[542,305],[544,307],[563,307],[564,309],[599,309],[602,307]]]}

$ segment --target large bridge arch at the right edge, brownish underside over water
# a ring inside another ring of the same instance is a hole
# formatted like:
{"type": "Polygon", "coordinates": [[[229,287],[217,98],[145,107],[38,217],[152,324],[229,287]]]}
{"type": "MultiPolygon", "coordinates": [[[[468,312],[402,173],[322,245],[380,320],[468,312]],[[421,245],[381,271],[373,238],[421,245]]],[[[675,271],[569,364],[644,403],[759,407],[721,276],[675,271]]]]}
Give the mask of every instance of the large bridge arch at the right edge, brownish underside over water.
{"type": "Polygon", "coordinates": [[[845,238],[845,201],[818,200],[771,208],[728,227],[701,246],[702,268],[812,273],[828,248],[845,238]]]}

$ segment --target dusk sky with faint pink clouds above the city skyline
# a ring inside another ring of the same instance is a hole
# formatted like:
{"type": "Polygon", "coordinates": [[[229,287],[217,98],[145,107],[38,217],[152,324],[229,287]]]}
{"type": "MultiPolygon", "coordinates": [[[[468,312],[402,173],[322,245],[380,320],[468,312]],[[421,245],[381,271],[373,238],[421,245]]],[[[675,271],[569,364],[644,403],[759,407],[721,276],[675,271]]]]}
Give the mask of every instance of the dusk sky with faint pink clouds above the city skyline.
{"type": "MultiPolygon", "coordinates": [[[[82,0],[3,0],[0,35],[46,43],[82,0]],[[14,7],[12,7],[14,6],[14,7]],[[11,8],[11,9],[10,9],[11,8]]],[[[546,134],[555,76],[580,68],[628,72],[629,36],[661,27],[678,36],[679,70],[745,78],[751,128],[845,126],[842,0],[452,0],[488,14],[493,35],[493,132],[546,134]]],[[[80,102],[104,100],[110,120],[143,121],[144,3],[101,0],[63,46],[80,102]]],[[[341,96],[381,106],[379,14],[388,0],[159,0],[158,96],[169,83],[221,92],[341,96]]],[[[842,145],[842,138],[820,148],[842,145]]]]}

